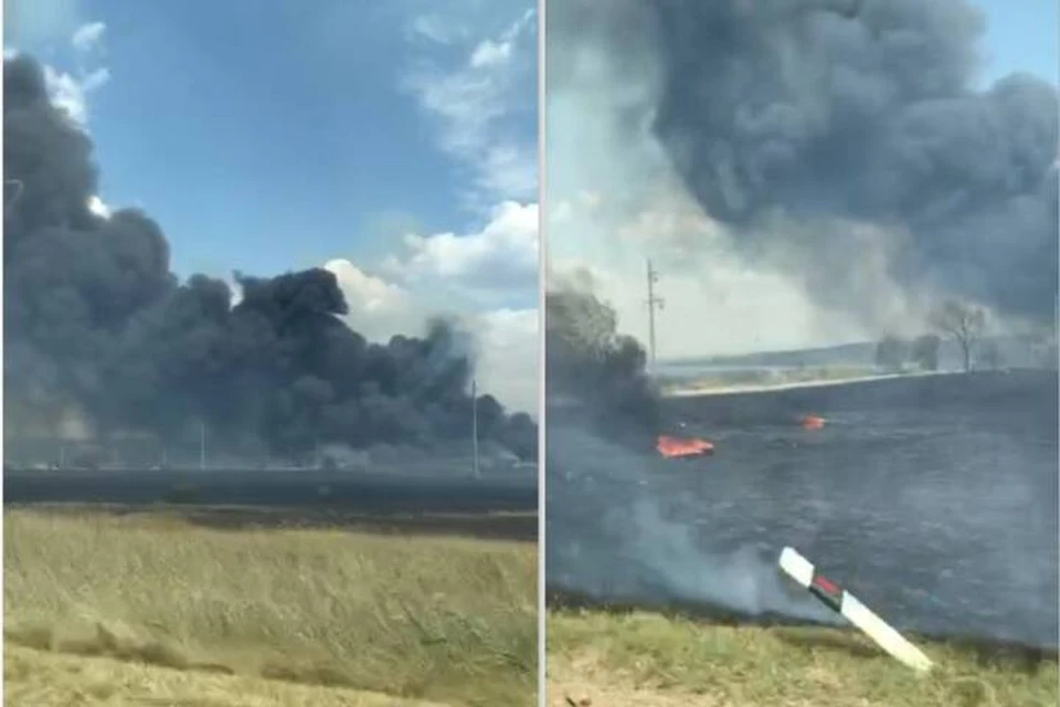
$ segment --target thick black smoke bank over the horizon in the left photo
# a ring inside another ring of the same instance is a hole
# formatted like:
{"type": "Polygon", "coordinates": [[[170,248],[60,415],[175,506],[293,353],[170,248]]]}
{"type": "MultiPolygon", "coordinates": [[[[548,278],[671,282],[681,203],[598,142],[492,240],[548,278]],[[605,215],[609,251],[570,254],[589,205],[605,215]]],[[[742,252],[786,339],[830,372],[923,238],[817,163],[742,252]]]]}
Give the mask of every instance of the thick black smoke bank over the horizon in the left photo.
{"type": "MultiPolygon", "coordinates": [[[[145,213],[93,214],[92,141],[47,98],[40,66],[4,61],[4,407],[9,430],[54,432],[72,411],[96,434],[177,439],[204,422],[234,449],[430,444],[470,434],[466,337],[367,341],[321,268],[229,286],[170,272],[145,213]],[[21,425],[21,426],[20,426],[21,425]]],[[[531,419],[479,401],[484,439],[536,456],[531,419]]]]}

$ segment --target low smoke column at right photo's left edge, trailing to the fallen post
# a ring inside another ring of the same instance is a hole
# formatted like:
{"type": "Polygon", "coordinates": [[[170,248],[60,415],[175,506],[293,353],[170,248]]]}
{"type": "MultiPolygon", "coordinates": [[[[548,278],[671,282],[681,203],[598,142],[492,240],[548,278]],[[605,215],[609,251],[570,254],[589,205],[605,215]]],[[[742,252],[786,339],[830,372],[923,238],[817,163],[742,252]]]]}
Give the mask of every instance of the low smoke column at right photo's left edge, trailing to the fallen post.
{"type": "Polygon", "coordinates": [[[559,284],[545,306],[551,592],[833,621],[785,591],[770,548],[711,551],[666,519],[643,484],[664,424],[644,347],[616,333],[590,282],[559,284]]]}

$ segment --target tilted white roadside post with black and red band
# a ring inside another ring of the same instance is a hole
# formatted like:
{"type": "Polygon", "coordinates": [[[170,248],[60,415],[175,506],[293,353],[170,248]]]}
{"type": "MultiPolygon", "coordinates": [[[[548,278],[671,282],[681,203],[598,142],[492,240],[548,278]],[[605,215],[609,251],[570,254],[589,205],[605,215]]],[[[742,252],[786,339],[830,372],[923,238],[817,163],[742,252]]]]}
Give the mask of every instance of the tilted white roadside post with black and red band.
{"type": "Polygon", "coordinates": [[[785,574],[808,590],[826,606],[863,631],[895,659],[920,673],[926,673],[932,668],[931,658],[924,655],[920,648],[876,615],[854,594],[823,574],[818,574],[813,562],[796,550],[784,548],[781,552],[780,566],[785,574]]]}

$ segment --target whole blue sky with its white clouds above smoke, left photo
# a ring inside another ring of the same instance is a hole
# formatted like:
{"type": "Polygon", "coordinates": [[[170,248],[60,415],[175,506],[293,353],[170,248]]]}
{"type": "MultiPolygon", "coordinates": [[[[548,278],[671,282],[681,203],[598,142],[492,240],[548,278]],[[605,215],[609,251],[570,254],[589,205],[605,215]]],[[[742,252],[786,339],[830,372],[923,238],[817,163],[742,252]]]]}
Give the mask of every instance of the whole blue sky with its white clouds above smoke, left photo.
{"type": "Polygon", "coordinates": [[[179,275],[327,264],[372,338],[452,314],[536,370],[532,0],[4,4],[179,275]]]}

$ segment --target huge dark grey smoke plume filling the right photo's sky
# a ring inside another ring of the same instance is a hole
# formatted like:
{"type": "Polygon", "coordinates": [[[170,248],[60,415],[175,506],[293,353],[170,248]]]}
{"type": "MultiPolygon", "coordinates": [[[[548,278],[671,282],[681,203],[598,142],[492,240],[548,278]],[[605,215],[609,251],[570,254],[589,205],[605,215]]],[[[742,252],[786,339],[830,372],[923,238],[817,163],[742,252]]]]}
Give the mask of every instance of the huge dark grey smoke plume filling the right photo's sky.
{"type": "Polygon", "coordinates": [[[826,231],[822,254],[869,222],[902,233],[898,284],[1051,320],[1057,88],[976,88],[966,0],[571,0],[548,21],[555,89],[587,46],[651,75],[656,138],[749,258],[799,247],[782,220],[826,231]]]}

